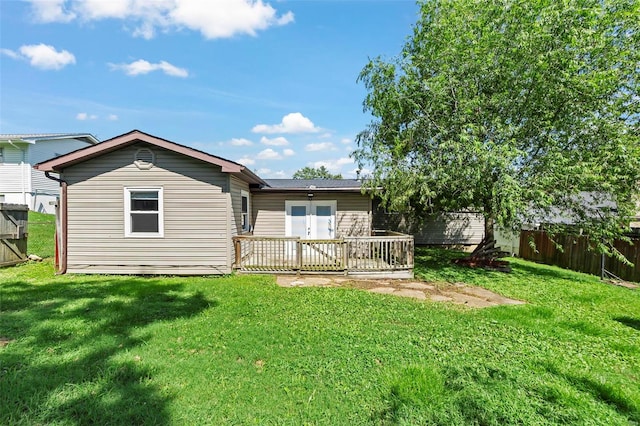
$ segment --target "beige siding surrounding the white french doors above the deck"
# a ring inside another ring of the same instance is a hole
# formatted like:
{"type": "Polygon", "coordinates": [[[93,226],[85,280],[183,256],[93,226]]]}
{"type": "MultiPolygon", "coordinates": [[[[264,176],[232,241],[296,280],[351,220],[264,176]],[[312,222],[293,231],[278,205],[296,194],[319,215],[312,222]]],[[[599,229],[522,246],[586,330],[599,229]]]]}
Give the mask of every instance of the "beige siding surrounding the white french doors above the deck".
{"type": "MultiPolygon", "coordinates": [[[[285,201],[307,201],[307,194],[254,193],[251,211],[253,235],[285,235],[285,201]]],[[[336,200],[336,237],[363,236],[371,233],[371,199],[359,193],[315,193],[314,201],[336,200]]]]}

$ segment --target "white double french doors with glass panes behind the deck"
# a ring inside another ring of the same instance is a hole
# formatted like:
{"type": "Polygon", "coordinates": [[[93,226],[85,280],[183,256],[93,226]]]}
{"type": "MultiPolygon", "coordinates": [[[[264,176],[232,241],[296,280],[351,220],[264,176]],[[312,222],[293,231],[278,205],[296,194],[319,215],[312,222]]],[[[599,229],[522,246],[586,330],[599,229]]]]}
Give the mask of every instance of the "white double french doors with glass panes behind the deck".
{"type": "Polygon", "coordinates": [[[285,201],[287,237],[333,239],[336,236],[336,201],[285,201]]]}

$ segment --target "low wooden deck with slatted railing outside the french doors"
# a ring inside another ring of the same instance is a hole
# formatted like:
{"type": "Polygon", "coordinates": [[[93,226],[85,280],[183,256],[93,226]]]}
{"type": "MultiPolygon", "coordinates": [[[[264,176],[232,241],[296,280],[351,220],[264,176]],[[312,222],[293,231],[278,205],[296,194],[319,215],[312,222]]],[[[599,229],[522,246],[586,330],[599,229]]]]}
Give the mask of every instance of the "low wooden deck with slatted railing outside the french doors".
{"type": "Polygon", "coordinates": [[[234,268],[251,273],[339,273],[412,278],[413,237],[388,231],[376,231],[376,234],[335,240],[234,237],[234,268]]]}

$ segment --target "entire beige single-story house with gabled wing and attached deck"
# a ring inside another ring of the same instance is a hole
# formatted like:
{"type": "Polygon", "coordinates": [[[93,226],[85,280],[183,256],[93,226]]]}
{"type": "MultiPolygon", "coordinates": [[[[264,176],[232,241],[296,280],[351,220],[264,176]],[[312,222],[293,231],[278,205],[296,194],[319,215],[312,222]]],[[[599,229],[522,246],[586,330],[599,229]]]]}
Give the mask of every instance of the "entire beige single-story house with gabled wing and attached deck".
{"type": "Polygon", "coordinates": [[[375,250],[349,240],[371,235],[370,197],[355,181],[265,181],[138,130],[34,167],[60,174],[61,273],[346,273],[373,260],[376,270],[412,267],[406,236],[402,247],[380,237],[375,250]]]}

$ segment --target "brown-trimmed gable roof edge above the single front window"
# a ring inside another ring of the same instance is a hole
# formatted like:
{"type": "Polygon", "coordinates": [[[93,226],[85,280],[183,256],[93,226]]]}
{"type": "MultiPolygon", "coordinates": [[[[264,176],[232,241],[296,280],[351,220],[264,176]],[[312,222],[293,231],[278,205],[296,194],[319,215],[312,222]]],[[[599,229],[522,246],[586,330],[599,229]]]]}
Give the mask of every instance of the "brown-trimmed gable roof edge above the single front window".
{"type": "Polygon", "coordinates": [[[266,184],[265,181],[263,181],[260,177],[258,177],[242,164],[226,160],[216,155],[208,154],[204,151],[189,148],[188,146],[180,145],[175,142],[171,142],[166,139],[141,132],[140,130],[132,130],[128,133],[116,136],[104,142],[100,142],[99,144],[81,148],[68,154],[43,161],[33,166],[33,168],[45,172],[60,172],[69,166],[73,166],[74,164],[82,163],[84,161],[99,157],[101,155],[118,150],[128,145],[132,145],[137,142],[145,142],[150,145],[166,149],[168,151],[176,152],[190,158],[204,161],[205,163],[220,166],[223,172],[237,175],[238,177],[249,183],[259,185],[266,184]]]}

